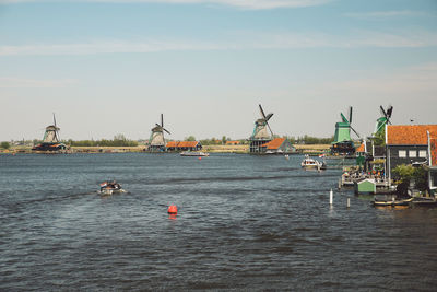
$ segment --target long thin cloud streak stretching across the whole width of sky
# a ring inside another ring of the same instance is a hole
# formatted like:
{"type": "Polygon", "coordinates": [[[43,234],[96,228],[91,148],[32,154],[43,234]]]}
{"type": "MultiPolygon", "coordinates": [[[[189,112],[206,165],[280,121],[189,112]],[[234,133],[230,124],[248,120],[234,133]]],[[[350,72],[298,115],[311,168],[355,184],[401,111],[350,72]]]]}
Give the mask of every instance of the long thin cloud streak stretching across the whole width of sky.
{"type": "Polygon", "coordinates": [[[54,56],[147,54],[158,51],[298,49],[298,48],[421,48],[436,47],[437,33],[355,32],[353,36],[296,33],[239,32],[222,42],[192,39],[105,40],[82,44],[31,44],[0,46],[0,56],[54,56]]]}

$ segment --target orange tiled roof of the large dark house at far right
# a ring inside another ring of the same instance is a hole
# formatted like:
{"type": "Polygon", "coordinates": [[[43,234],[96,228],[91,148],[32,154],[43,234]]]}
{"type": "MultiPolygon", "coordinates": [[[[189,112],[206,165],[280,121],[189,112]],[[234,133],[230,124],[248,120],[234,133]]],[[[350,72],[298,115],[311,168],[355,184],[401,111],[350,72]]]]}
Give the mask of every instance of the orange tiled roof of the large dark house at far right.
{"type": "Polygon", "coordinates": [[[428,137],[437,136],[437,125],[389,125],[387,126],[388,145],[427,145],[428,137]]]}

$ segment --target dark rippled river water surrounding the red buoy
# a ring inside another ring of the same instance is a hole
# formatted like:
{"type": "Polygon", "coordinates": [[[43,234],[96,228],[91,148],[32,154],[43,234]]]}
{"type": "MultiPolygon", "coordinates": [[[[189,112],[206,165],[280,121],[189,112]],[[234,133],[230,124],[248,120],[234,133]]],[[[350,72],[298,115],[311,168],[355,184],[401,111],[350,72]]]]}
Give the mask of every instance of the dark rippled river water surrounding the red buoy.
{"type": "Polygon", "coordinates": [[[331,209],[300,160],[0,155],[0,290],[435,290],[437,209],[331,209]]]}

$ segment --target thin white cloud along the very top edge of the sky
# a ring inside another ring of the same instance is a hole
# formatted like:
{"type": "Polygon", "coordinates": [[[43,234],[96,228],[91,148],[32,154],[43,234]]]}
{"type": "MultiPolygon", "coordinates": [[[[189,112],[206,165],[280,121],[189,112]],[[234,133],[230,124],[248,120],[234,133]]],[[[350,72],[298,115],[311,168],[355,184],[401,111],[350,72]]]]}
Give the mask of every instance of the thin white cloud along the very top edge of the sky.
{"type": "Polygon", "coordinates": [[[170,3],[170,4],[221,4],[241,9],[277,9],[322,5],[332,0],[0,0],[0,4],[24,2],[107,2],[107,3],[170,3]]]}

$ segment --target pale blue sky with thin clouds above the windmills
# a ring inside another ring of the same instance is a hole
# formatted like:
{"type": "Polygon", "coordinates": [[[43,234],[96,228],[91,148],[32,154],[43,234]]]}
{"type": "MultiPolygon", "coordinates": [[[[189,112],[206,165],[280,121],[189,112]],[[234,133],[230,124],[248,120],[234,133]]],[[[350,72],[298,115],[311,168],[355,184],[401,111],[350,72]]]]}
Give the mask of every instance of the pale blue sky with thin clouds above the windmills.
{"type": "MultiPolygon", "coordinates": [[[[0,141],[437,124],[436,0],[0,0],[0,141]],[[413,121],[411,121],[413,120],[413,121]]],[[[354,138],[354,136],[353,136],[354,138]]]]}

